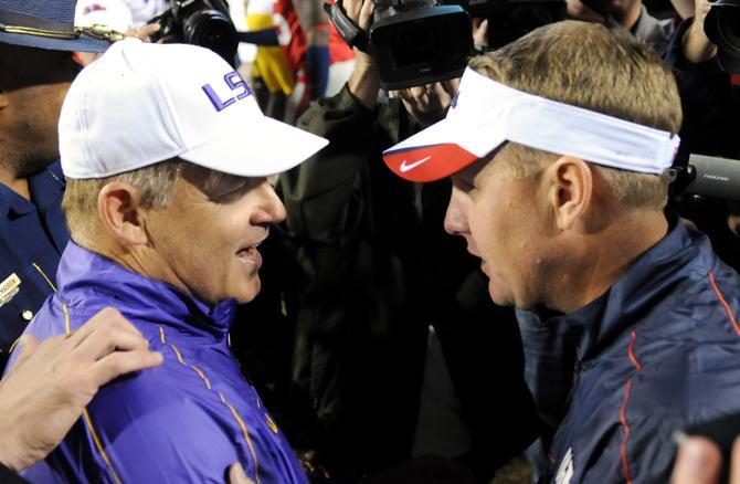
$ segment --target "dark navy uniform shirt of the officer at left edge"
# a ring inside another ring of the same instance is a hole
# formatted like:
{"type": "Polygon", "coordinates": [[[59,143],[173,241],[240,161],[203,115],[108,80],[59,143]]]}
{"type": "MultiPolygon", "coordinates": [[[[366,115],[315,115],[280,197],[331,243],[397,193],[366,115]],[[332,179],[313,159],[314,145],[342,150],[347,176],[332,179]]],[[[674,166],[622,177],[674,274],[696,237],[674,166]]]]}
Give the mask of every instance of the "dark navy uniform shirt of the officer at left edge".
{"type": "Polygon", "coordinates": [[[59,162],[29,178],[30,201],[0,185],[0,371],[10,347],[53,292],[56,265],[70,240],[61,203],[64,187],[59,162]]]}

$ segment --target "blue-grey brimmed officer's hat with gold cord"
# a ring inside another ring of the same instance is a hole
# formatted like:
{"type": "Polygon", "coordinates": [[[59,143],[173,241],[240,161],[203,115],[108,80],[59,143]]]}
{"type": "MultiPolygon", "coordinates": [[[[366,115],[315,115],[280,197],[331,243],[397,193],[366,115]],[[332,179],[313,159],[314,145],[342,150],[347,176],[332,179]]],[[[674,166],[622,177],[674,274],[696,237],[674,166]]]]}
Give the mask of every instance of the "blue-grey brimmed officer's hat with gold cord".
{"type": "Polygon", "coordinates": [[[105,52],[110,32],[74,25],[75,0],[0,0],[0,43],[52,51],[105,52]]]}

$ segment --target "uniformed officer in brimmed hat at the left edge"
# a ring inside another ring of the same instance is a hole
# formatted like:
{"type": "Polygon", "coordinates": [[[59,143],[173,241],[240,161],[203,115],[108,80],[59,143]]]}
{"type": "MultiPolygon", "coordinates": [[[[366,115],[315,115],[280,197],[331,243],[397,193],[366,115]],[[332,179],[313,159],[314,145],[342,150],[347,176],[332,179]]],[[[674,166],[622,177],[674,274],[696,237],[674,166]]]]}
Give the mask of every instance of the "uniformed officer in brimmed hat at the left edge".
{"type": "Polygon", "coordinates": [[[75,0],[0,0],[0,370],[54,291],[68,241],[56,123],[78,65],[110,33],[74,28],[75,0]]]}

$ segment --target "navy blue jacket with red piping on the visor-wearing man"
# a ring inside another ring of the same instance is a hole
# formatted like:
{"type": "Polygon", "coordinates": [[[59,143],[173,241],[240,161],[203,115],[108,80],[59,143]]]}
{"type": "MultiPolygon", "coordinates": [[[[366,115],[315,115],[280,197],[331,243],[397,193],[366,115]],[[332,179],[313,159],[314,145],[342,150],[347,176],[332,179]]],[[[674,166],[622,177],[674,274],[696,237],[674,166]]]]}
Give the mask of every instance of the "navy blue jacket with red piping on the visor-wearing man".
{"type": "Polygon", "coordinates": [[[679,223],[599,299],[547,320],[578,353],[552,481],[669,482],[672,434],[740,410],[739,308],[738,274],[679,223]]]}

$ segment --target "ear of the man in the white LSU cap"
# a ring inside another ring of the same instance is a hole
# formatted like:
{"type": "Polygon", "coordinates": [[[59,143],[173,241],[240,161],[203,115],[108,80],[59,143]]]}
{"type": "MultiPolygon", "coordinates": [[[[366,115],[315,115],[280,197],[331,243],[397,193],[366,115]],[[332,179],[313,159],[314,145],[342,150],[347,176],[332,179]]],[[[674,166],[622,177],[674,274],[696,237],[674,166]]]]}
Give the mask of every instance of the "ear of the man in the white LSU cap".
{"type": "Polygon", "coordinates": [[[149,238],[145,229],[146,211],[139,190],[124,181],[107,183],[97,196],[97,213],[103,227],[127,245],[142,245],[149,238]]]}

